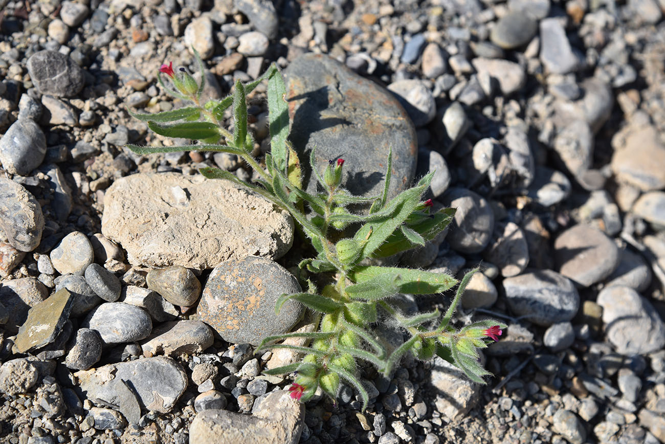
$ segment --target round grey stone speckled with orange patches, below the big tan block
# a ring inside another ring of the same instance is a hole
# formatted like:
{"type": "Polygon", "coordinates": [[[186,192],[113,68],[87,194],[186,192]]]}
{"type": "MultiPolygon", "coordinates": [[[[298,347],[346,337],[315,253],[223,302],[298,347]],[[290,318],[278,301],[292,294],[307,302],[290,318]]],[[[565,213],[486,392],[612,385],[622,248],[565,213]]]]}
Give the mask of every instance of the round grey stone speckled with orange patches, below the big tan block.
{"type": "Polygon", "coordinates": [[[298,322],[301,304],[287,301],[276,315],[275,302],[284,293],[301,291],[297,279],[281,265],[249,256],[213,269],[196,313],[223,340],[258,345],[266,336],[288,332],[298,322]]]}

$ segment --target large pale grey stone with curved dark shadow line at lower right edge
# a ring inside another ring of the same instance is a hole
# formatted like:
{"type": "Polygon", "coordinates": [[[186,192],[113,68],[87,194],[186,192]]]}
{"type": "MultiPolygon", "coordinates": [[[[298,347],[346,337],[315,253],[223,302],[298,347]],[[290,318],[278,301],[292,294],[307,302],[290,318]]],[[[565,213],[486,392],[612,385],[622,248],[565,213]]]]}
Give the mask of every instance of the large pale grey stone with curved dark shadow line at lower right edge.
{"type": "Polygon", "coordinates": [[[620,354],[647,354],[665,346],[665,323],[652,304],[627,286],[600,290],[605,336],[620,354]]]}

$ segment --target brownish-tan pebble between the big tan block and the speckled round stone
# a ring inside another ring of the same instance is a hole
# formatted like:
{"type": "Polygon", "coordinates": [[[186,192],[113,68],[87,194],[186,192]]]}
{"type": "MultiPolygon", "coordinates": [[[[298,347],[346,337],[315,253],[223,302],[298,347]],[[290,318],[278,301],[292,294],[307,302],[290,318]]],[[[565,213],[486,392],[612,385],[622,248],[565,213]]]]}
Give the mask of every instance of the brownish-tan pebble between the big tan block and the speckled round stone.
{"type": "Polygon", "coordinates": [[[146,282],[150,290],[174,305],[192,306],[201,296],[201,282],[191,270],[180,265],[150,270],[146,282]]]}

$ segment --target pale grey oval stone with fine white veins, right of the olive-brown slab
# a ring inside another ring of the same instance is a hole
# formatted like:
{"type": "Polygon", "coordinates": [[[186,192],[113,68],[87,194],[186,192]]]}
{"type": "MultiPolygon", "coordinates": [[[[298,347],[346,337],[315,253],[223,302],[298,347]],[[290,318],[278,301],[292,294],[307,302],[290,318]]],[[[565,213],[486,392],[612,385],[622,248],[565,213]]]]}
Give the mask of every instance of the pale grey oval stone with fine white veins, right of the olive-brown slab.
{"type": "Polygon", "coordinates": [[[96,330],[105,344],[142,340],[152,331],[148,313],[123,302],[101,304],[86,316],[81,325],[96,330]]]}

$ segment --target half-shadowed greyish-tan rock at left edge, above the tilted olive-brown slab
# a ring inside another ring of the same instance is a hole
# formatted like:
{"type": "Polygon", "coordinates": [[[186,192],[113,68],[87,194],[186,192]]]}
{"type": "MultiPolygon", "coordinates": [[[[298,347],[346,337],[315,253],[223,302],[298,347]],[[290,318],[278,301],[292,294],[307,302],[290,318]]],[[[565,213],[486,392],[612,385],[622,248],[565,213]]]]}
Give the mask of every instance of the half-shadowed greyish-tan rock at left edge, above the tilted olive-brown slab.
{"type": "Polygon", "coordinates": [[[28,310],[49,296],[49,290],[31,277],[13,279],[0,286],[0,301],[7,309],[8,319],[5,330],[10,333],[19,331],[28,317],[28,310]]]}

